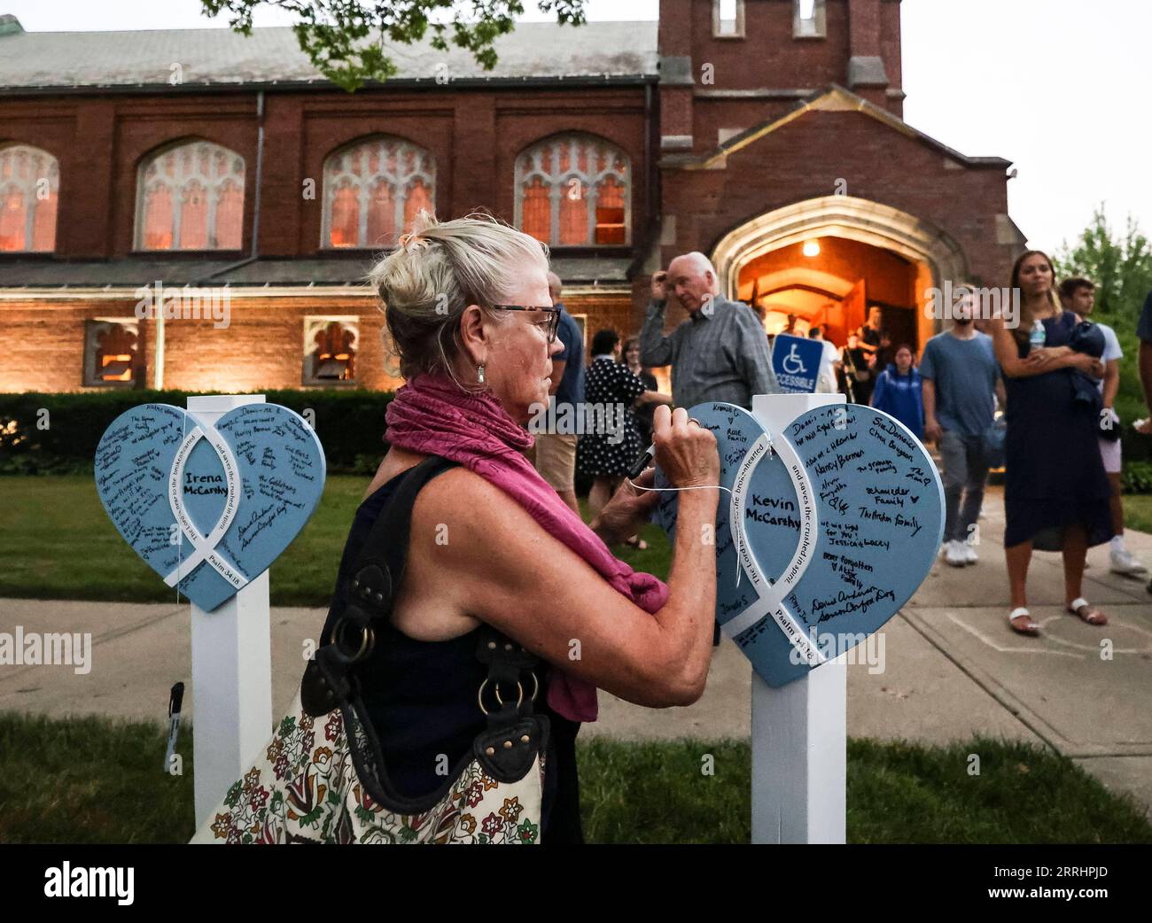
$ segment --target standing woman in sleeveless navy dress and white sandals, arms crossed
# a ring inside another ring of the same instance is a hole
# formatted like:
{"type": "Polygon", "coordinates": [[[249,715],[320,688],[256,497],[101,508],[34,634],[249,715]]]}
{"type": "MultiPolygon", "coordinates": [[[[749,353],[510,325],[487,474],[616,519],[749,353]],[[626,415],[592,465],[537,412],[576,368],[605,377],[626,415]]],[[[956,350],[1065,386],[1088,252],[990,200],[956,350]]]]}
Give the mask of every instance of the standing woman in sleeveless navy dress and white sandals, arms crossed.
{"type": "Polygon", "coordinates": [[[1093,405],[1076,399],[1074,372],[1100,377],[1098,359],[1067,344],[1076,315],[1063,311],[1054,293],[1052,260],[1040,251],[1024,253],[1013,267],[1020,291],[1018,326],[993,322],[996,359],[1003,371],[1008,404],[1005,417],[1005,556],[1014,631],[1038,634],[1028,611],[1025,583],[1032,549],[1062,551],[1064,601],[1070,613],[1090,625],[1105,615],[1081,596],[1084,557],[1112,537],[1111,496],[1098,444],[1093,405]],[[1043,348],[1029,341],[1034,322],[1044,326],[1043,348]]]}

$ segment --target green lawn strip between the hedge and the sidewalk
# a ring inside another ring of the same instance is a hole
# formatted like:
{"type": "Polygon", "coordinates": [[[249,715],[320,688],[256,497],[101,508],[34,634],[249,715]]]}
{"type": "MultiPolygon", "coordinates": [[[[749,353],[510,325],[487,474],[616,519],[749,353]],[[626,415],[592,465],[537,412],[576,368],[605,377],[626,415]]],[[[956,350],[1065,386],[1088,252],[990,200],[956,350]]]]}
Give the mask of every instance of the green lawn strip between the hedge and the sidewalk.
{"type": "MultiPolygon", "coordinates": [[[[328,604],[356,508],[371,479],[333,475],[308,525],[272,565],[273,605],[328,604]]],[[[175,600],[104,512],[91,478],[0,476],[0,597],[168,602],[175,600]]],[[[657,526],[651,546],[617,554],[667,575],[670,550],[657,526]]]]}

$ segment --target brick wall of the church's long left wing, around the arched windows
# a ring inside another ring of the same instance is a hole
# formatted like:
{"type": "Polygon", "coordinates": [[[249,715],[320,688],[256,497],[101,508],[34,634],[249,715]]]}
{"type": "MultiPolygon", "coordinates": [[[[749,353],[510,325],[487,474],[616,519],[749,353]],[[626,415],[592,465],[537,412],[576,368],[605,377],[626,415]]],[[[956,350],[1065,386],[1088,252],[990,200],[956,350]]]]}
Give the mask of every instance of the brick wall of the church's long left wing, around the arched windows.
{"type": "MultiPolygon", "coordinates": [[[[180,96],[61,96],[0,100],[2,140],[41,147],[60,161],[56,258],[108,259],[134,252],[137,170],[142,160],[190,136],[229,147],[244,158],[244,253],[251,245],[257,117],[255,93],[180,96]]],[[[437,212],[455,216],[483,208],[514,218],[515,158],[559,131],[579,130],[620,145],[632,163],[634,244],[594,249],[631,258],[649,226],[646,211],[645,90],[643,86],[498,91],[444,90],[268,93],[265,101],[259,252],[268,257],[318,255],[325,158],[376,132],[400,135],[437,159],[437,212]],[[304,181],[316,181],[305,199],[304,181]]],[[[556,247],[558,255],[581,252],[556,247]]],[[[591,251],[583,251],[591,252],[591,251]]],[[[181,254],[185,255],[185,254],[181,254]]],[[[243,253],[237,252],[240,257],[243,253]]],[[[215,258],[228,254],[214,253],[215,258]]],[[[8,258],[0,254],[0,265],[8,258]]],[[[187,254],[195,262],[195,254],[187,254]]],[[[132,318],[135,299],[0,302],[0,321],[18,343],[0,368],[2,390],[77,390],[83,387],[84,321],[132,318]]],[[[165,384],[205,390],[301,386],[303,319],[308,314],[358,315],[358,380],[372,388],[399,383],[385,371],[382,315],[371,297],[233,297],[228,329],[210,321],[166,325],[165,384]]],[[[627,292],[574,299],[591,330],[635,323],[627,292]]],[[[141,323],[149,383],[154,335],[141,323]]]]}

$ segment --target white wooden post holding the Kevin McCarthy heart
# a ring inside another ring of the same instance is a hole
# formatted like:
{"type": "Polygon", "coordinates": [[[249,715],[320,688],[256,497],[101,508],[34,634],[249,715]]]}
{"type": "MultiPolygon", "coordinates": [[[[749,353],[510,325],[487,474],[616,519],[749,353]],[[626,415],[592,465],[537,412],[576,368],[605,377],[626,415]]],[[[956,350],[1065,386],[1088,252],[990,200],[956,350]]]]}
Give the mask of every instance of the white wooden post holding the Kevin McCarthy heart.
{"type": "MultiPolygon", "coordinates": [[[[843,395],[757,395],[778,438],[801,413],[843,395]]],[[[838,657],[778,689],[752,673],[752,842],[844,842],[848,669],[838,657]]]]}

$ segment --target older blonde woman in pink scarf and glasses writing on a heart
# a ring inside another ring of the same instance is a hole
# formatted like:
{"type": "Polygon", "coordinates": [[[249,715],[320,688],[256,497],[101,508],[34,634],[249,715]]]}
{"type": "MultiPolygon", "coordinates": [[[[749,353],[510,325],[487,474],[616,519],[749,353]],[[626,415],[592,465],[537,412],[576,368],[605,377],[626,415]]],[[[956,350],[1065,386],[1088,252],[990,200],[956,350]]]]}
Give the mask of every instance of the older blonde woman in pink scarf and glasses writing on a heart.
{"type": "MultiPolygon", "coordinates": [[[[548,665],[538,709],[551,724],[541,841],[561,844],[582,840],[575,738],[581,722],[596,720],[596,689],[652,708],[704,691],[715,549],[698,536],[715,520],[719,457],[684,410],[657,409],[661,470],[674,486],[699,489],[680,494],[667,585],[613,557],[607,544],[635,534],[659,494],[624,485],[585,525],[523,455],[524,425],[547,404],[561,349],[547,273],[543,244],[487,215],[438,223],[422,213],[377,266],[407,383],[388,407],[391,448],[357,510],[341,578],[406,472],[433,456],[457,464],[417,495],[389,631],[365,663],[364,702],[394,784],[424,795],[444,781],[438,755],[455,765],[485,726],[477,632],[492,626],[536,654],[548,665]]],[[[639,483],[651,486],[652,474],[639,483]]]]}

